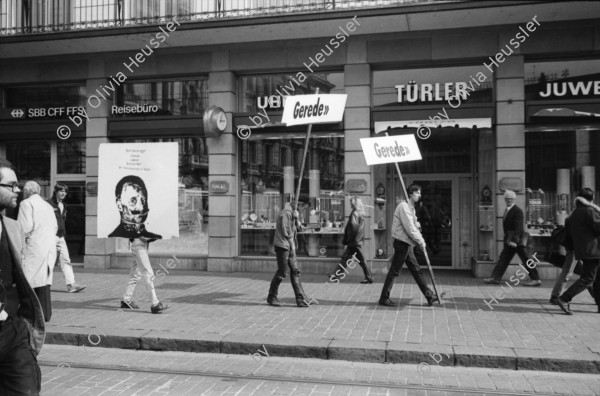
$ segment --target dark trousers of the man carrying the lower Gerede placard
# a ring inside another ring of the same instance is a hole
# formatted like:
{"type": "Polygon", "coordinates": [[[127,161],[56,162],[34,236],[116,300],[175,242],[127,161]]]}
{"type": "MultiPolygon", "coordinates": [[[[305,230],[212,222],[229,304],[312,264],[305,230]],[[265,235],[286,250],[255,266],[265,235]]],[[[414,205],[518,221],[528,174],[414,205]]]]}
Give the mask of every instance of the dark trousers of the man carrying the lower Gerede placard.
{"type": "Polygon", "coordinates": [[[419,289],[421,289],[421,293],[423,293],[423,295],[427,298],[430,298],[435,294],[429,287],[427,287],[427,283],[423,279],[421,268],[419,267],[419,263],[417,262],[417,258],[413,252],[413,247],[406,242],[394,239],[394,257],[392,258],[392,265],[387,276],[385,277],[385,282],[383,283],[381,297],[379,298],[380,301],[390,298],[392,287],[394,286],[394,280],[398,277],[398,275],[400,275],[400,271],[402,271],[402,266],[405,262],[408,270],[417,282],[419,289]]]}

